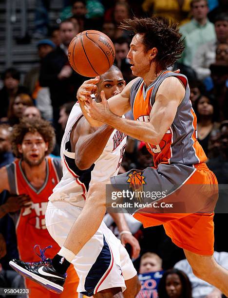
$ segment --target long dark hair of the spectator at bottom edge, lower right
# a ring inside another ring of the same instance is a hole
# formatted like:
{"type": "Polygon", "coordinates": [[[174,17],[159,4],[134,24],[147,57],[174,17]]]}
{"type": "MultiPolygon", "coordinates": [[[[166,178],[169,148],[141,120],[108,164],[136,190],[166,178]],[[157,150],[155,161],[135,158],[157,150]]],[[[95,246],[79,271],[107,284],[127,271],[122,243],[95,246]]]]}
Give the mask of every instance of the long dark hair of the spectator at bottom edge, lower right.
{"type": "Polygon", "coordinates": [[[175,268],[167,270],[163,274],[162,278],[160,279],[159,284],[158,284],[158,289],[157,289],[158,297],[159,298],[169,298],[170,297],[166,291],[166,279],[167,279],[167,276],[170,274],[177,274],[180,278],[180,281],[182,284],[181,298],[192,298],[191,282],[190,282],[187,274],[185,274],[183,271],[175,269],[175,268]]]}

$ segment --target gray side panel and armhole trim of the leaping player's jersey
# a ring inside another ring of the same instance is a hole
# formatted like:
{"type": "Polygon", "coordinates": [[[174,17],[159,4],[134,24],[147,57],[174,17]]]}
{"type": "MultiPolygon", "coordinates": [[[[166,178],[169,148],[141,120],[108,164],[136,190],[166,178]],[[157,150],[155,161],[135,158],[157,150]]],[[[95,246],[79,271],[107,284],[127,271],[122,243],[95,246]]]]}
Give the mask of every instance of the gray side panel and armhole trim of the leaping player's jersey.
{"type": "Polygon", "coordinates": [[[198,164],[199,159],[195,154],[195,150],[193,148],[194,141],[191,138],[194,132],[194,127],[192,125],[193,116],[190,112],[190,89],[187,77],[185,75],[175,73],[168,73],[163,75],[153,88],[151,104],[153,105],[155,101],[155,95],[158,90],[158,87],[161,85],[163,80],[169,76],[179,76],[186,79],[186,84],[184,84],[186,89],[185,96],[181,104],[177,108],[175,118],[171,125],[171,129],[173,132],[173,141],[171,145],[172,157],[170,158],[170,163],[180,163],[189,166],[193,164],[198,164]]]}

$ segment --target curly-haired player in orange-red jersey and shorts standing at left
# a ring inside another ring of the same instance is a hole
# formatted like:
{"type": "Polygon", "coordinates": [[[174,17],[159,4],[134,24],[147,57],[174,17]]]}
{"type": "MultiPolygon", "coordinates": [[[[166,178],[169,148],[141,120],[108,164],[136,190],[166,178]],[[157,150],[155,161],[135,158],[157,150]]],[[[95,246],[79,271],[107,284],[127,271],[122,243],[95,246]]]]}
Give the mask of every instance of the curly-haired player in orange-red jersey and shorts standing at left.
{"type": "MultiPolygon", "coordinates": [[[[20,258],[38,261],[39,258],[33,251],[36,244],[42,248],[52,245],[56,252],[59,250],[58,244],[49,235],[44,220],[48,197],[62,176],[59,159],[47,157],[54,147],[55,133],[49,122],[25,118],[14,126],[11,141],[13,152],[19,159],[0,168],[0,192],[6,189],[11,195],[23,197],[24,202],[30,198],[31,202],[22,206],[13,218],[16,222],[20,258]]],[[[41,253],[38,247],[35,251],[41,253]]],[[[48,251],[45,254],[51,256],[48,251]]],[[[76,298],[78,278],[74,267],[71,266],[67,272],[69,283],[61,296],[25,279],[25,288],[31,289],[29,297],[76,298]]]]}

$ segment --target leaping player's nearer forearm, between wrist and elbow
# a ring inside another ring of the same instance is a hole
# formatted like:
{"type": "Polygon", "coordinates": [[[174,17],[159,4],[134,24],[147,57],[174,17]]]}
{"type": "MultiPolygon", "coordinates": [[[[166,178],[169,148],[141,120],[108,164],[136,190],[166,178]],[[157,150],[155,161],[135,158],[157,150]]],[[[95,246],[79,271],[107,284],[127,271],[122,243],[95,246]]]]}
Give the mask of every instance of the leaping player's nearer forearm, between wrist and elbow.
{"type": "Polygon", "coordinates": [[[111,113],[104,122],[134,139],[152,145],[157,145],[161,141],[160,135],[153,129],[152,124],[149,122],[129,120],[111,113]]]}

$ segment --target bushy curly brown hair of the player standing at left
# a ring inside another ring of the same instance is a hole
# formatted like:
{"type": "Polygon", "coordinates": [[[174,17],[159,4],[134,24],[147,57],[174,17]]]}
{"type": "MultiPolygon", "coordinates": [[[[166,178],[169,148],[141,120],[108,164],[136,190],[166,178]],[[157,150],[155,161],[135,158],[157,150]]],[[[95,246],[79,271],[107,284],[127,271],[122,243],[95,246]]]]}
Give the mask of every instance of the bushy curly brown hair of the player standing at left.
{"type": "Polygon", "coordinates": [[[56,144],[56,134],[51,123],[43,119],[28,119],[26,117],[22,118],[19,124],[14,125],[11,133],[12,150],[16,157],[22,157],[22,154],[18,150],[18,145],[22,144],[27,132],[38,132],[43,137],[44,142],[48,142],[48,150],[45,152],[45,155],[53,151],[56,144]]]}

